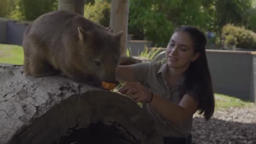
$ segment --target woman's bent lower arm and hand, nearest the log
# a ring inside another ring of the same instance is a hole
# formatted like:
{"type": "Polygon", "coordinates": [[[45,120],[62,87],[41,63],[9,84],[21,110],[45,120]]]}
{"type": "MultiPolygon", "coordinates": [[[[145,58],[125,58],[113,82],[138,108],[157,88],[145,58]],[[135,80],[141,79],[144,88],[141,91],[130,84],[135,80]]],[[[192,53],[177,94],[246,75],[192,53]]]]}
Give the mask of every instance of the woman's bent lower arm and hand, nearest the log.
{"type": "MultiPolygon", "coordinates": [[[[140,83],[127,83],[119,92],[130,94],[135,102],[148,102],[151,99],[151,92],[140,83]]],[[[184,95],[179,105],[153,94],[153,99],[149,102],[149,105],[164,118],[175,124],[182,124],[197,111],[197,101],[188,94],[184,95]]]]}

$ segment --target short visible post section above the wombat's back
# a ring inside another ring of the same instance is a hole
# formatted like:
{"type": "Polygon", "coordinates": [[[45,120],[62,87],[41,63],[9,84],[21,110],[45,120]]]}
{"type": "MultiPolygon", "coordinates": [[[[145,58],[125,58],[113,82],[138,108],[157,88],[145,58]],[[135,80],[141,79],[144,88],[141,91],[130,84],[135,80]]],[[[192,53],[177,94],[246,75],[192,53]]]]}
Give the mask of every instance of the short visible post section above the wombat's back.
{"type": "Polygon", "coordinates": [[[85,0],[59,0],[58,10],[66,10],[84,15],[85,0]]]}

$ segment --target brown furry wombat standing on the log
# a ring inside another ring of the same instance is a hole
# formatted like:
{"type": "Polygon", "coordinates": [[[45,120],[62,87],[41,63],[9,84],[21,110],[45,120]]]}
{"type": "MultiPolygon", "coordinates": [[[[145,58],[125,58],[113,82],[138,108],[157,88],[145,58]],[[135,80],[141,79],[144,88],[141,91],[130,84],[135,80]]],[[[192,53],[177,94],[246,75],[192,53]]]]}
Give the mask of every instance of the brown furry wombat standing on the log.
{"type": "Polygon", "coordinates": [[[43,14],[23,36],[25,73],[35,77],[61,73],[91,85],[115,82],[122,34],[76,13],[43,14]]]}

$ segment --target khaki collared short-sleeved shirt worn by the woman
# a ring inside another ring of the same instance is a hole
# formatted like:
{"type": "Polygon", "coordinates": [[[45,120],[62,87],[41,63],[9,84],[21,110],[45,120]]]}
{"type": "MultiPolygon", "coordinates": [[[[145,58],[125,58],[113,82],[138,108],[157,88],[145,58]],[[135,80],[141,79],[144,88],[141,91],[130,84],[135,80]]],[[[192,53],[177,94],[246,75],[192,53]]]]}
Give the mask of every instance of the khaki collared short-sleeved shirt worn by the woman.
{"type": "MultiPolygon", "coordinates": [[[[170,90],[165,81],[167,64],[156,62],[144,62],[133,65],[134,77],[137,82],[142,83],[146,89],[154,94],[165,98],[171,102],[179,104],[179,86],[182,84],[183,79],[177,86],[170,90]]],[[[142,107],[153,116],[156,124],[156,129],[162,133],[164,137],[188,137],[191,131],[192,117],[183,125],[175,125],[159,115],[147,103],[143,103],[142,107]]]]}

